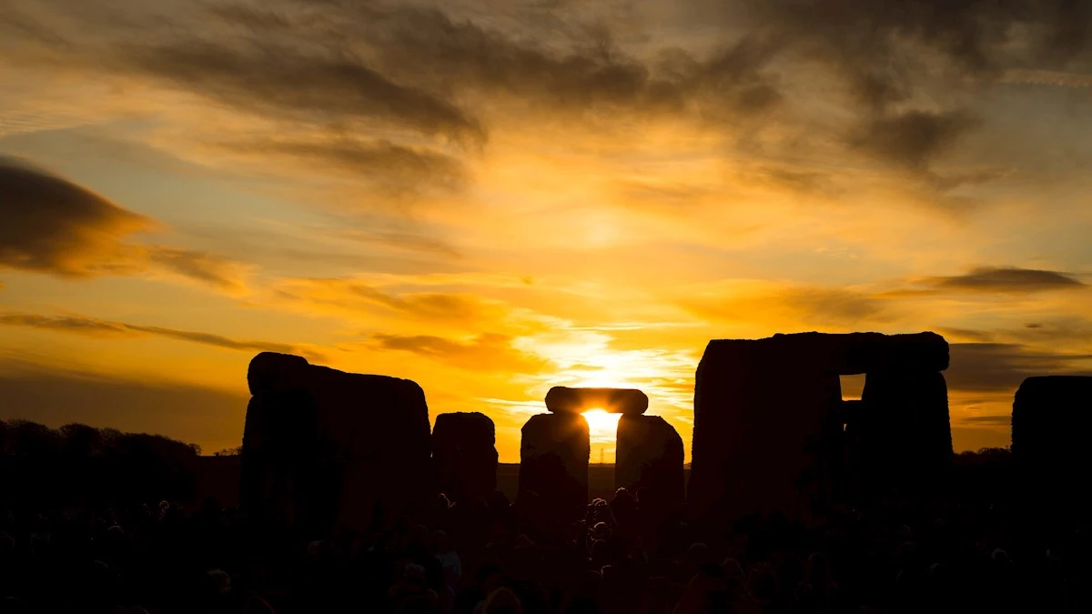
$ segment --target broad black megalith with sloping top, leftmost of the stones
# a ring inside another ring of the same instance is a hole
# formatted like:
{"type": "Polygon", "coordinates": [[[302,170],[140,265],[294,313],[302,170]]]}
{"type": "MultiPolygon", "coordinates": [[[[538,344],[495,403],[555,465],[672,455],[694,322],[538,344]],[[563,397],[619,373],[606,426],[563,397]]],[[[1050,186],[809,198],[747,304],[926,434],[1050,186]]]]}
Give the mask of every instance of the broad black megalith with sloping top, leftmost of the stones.
{"type": "Polygon", "coordinates": [[[240,501],[252,516],[328,536],[428,500],[428,405],[417,383],[269,352],[251,361],[247,381],[240,501]]]}

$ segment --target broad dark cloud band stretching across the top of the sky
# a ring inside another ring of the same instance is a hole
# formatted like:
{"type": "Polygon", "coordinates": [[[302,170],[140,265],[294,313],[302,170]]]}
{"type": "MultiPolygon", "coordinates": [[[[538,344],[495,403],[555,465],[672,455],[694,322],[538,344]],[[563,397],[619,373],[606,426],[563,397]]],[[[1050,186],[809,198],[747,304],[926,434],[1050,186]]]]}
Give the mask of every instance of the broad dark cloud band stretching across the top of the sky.
{"type": "MultiPolygon", "coordinates": [[[[372,177],[385,169],[400,189],[420,180],[459,185],[465,170],[456,154],[441,160],[429,147],[454,141],[476,150],[496,115],[562,122],[667,115],[744,140],[787,102],[800,103],[778,116],[795,122],[787,131],[836,130],[843,145],[947,191],[997,176],[931,168],[975,128],[989,84],[1011,70],[1061,71],[1092,60],[1092,4],[1073,0],[691,0],[681,11],[227,0],[198,11],[171,5],[174,19],[71,4],[52,29],[54,21],[27,16],[48,11],[12,11],[9,21],[22,24],[10,25],[12,37],[38,40],[27,33],[50,32],[64,40],[50,46],[66,50],[49,61],[135,72],[320,132],[316,142],[270,151],[340,172],[375,168],[372,177]],[[661,14],[674,21],[641,21],[661,14]],[[700,31],[701,40],[679,48],[656,36],[661,27],[700,31]],[[80,36],[85,32],[100,39],[80,36]],[[841,91],[830,86],[832,75],[841,91]],[[847,111],[838,125],[829,121],[836,113],[804,119],[819,108],[817,91],[823,108],[847,111]],[[393,145],[341,139],[365,130],[381,130],[393,145]]],[[[771,147],[780,150],[763,153],[803,153],[784,142],[771,147]]],[[[807,175],[782,179],[814,190],[807,175]]]]}

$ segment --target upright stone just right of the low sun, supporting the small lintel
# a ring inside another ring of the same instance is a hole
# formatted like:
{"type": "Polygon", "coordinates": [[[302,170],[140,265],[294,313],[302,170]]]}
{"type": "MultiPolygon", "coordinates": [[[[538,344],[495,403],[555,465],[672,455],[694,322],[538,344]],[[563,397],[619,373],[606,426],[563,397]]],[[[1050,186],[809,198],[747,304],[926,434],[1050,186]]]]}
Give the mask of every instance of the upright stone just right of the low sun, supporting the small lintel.
{"type": "Polygon", "coordinates": [[[677,504],[685,500],[682,438],[660,416],[624,415],[618,420],[615,487],[677,504]]]}

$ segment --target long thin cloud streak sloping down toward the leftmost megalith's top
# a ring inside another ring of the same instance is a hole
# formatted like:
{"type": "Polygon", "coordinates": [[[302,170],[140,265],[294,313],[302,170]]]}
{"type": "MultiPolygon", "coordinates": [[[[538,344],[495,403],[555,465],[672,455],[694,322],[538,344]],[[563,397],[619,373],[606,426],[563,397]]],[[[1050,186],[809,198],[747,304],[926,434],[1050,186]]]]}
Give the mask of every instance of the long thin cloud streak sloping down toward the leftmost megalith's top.
{"type": "Polygon", "coordinates": [[[102,338],[139,338],[139,336],[162,336],[177,341],[200,343],[224,350],[235,350],[239,352],[280,352],[284,354],[299,354],[322,362],[324,356],[309,347],[293,345],[288,343],[272,343],[266,341],[252,341],[232,339],[218,334],[206,332],[178,330],[163,327],[152,327],[144,324],[129,324],[110,320],[99,320],[87,316],[43,316],[39,314],[26,314],[20,311],[0,311],[0,324],[36,328],[56,332],[67,332],[82,334],[85,336],[102,338]]]}

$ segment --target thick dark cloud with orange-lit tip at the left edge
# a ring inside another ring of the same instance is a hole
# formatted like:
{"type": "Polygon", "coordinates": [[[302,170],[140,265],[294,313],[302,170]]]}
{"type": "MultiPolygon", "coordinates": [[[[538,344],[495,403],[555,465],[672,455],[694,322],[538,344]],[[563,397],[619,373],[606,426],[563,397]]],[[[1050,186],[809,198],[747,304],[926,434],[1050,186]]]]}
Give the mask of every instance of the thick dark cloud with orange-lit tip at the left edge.
{"type": "Polygon", "coordinates": [[[104,274],[133,258],[126,236],[152,221],[86,188],[0,156],[0,267],[71,278],[104,274]]]}

